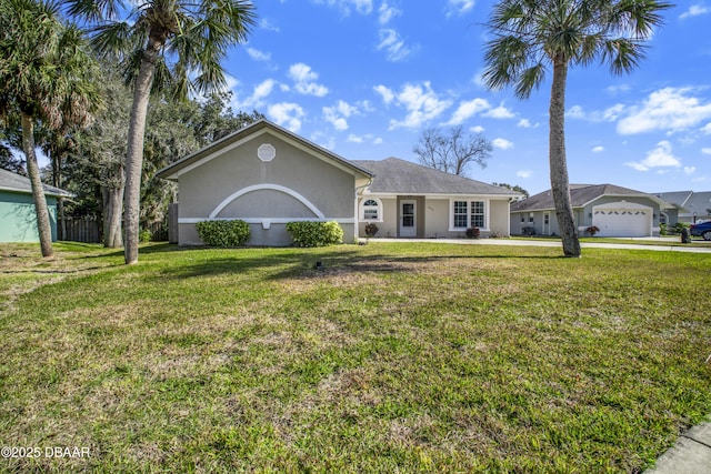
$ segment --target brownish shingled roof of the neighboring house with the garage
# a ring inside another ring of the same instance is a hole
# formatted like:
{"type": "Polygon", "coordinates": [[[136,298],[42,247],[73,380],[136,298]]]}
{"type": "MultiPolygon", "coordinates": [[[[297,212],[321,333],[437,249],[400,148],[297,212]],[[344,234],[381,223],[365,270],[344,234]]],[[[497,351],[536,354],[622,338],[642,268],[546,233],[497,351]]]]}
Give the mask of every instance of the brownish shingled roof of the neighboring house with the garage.
{"type": "MultiPolygon", "coordinates": [[[[582,208],[591,201],[602,196],[644,196],[655,200],[662,204],[663,209],[668,209],[670,204],[663,202],[653,194],[648,194],[642,191],[631,190],[629,188],[622,188],[614,184],[571,184],[570,185],[570,203],[573,208],[582,208]]],[[[543,191],[535,195],[532,195],[523,201],[514,202],[511,204],[511,212],[521,211],[542,211],[554,209],[553,195],[551,190],[543,191]]]]}

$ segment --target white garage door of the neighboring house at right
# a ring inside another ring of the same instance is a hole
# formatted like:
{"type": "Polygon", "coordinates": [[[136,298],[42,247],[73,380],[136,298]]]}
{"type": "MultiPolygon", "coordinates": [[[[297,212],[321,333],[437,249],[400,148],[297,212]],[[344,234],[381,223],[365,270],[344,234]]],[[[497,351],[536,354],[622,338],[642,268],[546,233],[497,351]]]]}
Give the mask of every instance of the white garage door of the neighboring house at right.
{"type": "Polygon", "coordinates": [[[600,236],[651,236],[652,208],[632,203],[611,203],[593,208],[592,225],[600,236]]]}

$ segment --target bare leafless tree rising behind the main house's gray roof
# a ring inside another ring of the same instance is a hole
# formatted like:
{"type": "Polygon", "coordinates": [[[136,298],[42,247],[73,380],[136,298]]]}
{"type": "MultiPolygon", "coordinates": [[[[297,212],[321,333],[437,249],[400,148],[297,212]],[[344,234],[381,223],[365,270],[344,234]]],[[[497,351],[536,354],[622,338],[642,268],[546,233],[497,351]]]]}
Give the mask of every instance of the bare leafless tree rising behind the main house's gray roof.
{"type": "Polygon", "coordinates": [[[483,135],[464,135],[460,125],[448,132],[424,130],[412,152],[425,167],[464,175],[472,163],[485,168],[492,150],[491,142],[483,135]]]}

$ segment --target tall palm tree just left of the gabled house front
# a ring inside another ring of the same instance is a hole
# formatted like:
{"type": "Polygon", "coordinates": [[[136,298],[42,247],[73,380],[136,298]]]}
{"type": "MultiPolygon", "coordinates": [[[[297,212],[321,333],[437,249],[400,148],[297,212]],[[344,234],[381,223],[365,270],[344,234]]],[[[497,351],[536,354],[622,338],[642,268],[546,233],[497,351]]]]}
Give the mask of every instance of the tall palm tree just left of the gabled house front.
{"type": "Polygon", "coordinates": [[[221,60],[247,39],[254,24],[248,0],[138,0],[127,11],[121,0],[66,0],[70,14],[92,24],[92,43],[118,58],[133,84],[126,157],[124,258],[138,262],[141,171],[146,115],[152,90],[186,98],[226,84],[221,60]],[[190,77],[194,79],[190,80],[190,77]]]}

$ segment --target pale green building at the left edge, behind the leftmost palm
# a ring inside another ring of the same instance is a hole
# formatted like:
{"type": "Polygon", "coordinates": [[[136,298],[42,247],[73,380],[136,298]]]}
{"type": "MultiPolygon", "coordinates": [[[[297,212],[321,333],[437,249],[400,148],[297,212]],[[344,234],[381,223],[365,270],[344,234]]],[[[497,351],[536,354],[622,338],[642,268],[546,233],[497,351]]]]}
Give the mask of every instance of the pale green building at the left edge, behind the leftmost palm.
{"type": "MultiPolygon", "coordinates": [[[[52,241],[57,240],[57,198],[72,194],[43,184],[44,198],[52,229],[52,241]]],[[[29,178],[0,169],[0,242],[39,242],[37,212],[29,178]]]]}

